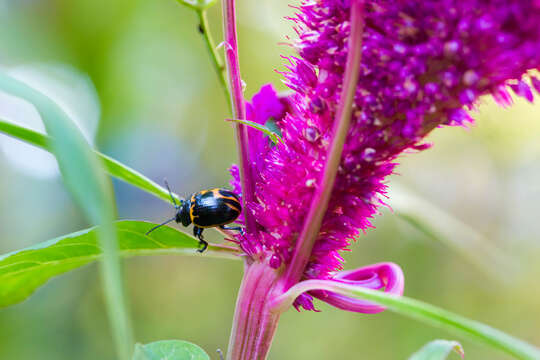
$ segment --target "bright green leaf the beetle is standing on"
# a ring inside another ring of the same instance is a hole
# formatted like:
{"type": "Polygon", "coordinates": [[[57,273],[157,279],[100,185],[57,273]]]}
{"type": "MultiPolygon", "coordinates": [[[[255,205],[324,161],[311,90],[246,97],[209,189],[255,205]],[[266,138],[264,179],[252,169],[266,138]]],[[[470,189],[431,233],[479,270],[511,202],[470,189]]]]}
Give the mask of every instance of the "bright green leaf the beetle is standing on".
{"type": "MultiPolygon", "coordinates": [[[[184,254],[200,256],[199,240],[163,226],[149,235],[156,224],[143,221],[115,223],[122,256],[184,254]]],[[[13,305],[30,296],[49,279],[98,260],[102,249],[97,227],[0,255],[0,307],[13,305]]],[[[210,244],[205,257],[238,259],[234,248],[210,244]]]]}

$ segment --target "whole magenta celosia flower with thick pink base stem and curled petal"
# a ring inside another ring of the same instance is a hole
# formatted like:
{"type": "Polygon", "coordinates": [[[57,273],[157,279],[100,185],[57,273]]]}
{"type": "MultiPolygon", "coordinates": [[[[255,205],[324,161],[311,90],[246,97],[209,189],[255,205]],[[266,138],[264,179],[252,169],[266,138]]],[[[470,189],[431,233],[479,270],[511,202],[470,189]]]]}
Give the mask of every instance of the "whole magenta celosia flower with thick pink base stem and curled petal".
{"type": "MultiPolygon", "coordinates": [[[[508,88],[529,101],[531,88],[540,89],[527,75],[540,67],[537,0],[377,1],[365,8],[361,0],[319,0],[297,10],[299,56],[283,73],[293,94],[280,97],[266,85],[247,105],[247,118],[272,120],[284,144],[244,129],[249,161],[242,184],[251,192],[242,193],[248,234],[237,238],[247,268],[231,339],[234,358],[266,354],[279,318],[271,304],[299,281],[401,294],[403,275],[395,264],[340,272],[340,251],[372,226],[384,205],[384,181],[396,158],[428,148],[422,139],[437,127],[472,122],[467,110],[483,95],[509,105],[508,88]],[[259,328],[249,328],[249,318],[259,328]],[[255,340],[239,348],[239,334],[248,330],[255,334],[244,336],[255,340]]],[[[242,192],[240,171],[231,173],[242,192]]],[[[297,308],[315,309],[316,297],[349,311],[382,310],[306,290],[297,308]]]]}

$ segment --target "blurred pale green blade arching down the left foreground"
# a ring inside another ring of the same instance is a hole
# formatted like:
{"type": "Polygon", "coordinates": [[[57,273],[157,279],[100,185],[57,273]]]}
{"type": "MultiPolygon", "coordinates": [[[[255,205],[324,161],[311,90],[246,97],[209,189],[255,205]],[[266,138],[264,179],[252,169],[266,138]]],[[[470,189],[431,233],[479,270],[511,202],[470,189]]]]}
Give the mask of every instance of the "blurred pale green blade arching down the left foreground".
{"type": "Polygon", "coordinates": [[[124,299],[116,231],[112,225],[116,213],[114,194],[110,180],[102,169],[102,162],[77,125],[49,97],[3,73],[0,73],[0,90],[35,106],[51,136],[50,148],[58,161],[66,187],[86,218],[92,224],[101,225],[98,229],[104,253],[101,278],[107,310],[118,357],[127,360],[133,347],[133,335],[124,299]]]}

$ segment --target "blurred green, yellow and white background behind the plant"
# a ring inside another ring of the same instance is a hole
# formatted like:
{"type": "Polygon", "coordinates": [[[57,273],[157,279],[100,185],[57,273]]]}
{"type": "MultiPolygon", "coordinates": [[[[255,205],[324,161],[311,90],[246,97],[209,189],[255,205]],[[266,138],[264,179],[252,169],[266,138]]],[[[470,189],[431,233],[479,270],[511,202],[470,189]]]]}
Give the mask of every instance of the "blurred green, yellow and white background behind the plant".
{"type": "MultiPolygon", "coordinates": [[[[238,2],[246,95],[267,82],[285,90],[275,70],[283,70],[280,55],[291,54],[284,17],[294,9],[287,0],[238,2]]],[[[209,14],[217,42],[219,11],[209,14]]],[[[195,14],[174,0],[0,0],[0,66],[48,74],[48,94],[67,99],[87,137],[155,181],[168,178],[180,194],[227,185],[236,152],[226,102],[195,14]]],[[[10,100],[0,96],[0,104],[10,100]]],[[[41,126],[32,109],[17,106],[2,115],[41,126]]],[[[431,150],[402,158],[390,187],[396,199],[412,192],[423,200],[383,210],[377,228],[345,255],[346,267],[394,261],[406,295],[540,345],[540,103],[502,109],[485,99],[473,116],[470,129],[437,129],[431,150]],[[454,220],[432,217],[429,233],[401,216],[404,205],[416,214],[437,214],[436,207],[454,220]],[[494,249],[503,255],[490,255],[494,249]]],[[[0,253],[88,226],[50,162],[0,134],[0,253]]],[[[120,218],[170,216],[167,203],[114,184],[120,218]]],[[[189,340],[217,358],[215,349],[228,342],[241,263],[156,256],[125,265],[137,340],[189,340]]],[[[319,313],[292,309],[282,317],[271,359],[405,359],[432,339],[455,339],[390,312],[317,306],[319,313]]],[[[462,344],[469,359],[508,358],[462,344]]],[[[0,309],[2,360],[113,358],[95,264],[0,309]]]]}

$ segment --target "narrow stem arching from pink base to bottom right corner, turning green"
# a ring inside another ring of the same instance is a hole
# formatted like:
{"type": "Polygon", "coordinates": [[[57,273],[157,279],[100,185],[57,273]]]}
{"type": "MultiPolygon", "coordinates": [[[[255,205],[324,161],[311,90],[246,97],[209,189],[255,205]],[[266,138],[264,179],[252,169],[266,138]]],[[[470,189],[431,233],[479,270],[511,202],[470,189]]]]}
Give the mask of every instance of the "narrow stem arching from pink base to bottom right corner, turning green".
{"type": "Polygon", "coordinates": [[[476,342],[502,350],[518,359],[540,359],[540,349],[478,321],[403,296],[352,286],[331,280],[306,280],[291,287],[274,300],[273,311],[281,313],[300,294],[311,290],[325,290],[345,296],[361,298],[388,307],[389,310],[460,334],[476,342]]]}

